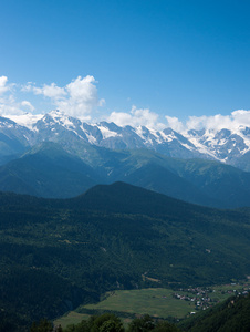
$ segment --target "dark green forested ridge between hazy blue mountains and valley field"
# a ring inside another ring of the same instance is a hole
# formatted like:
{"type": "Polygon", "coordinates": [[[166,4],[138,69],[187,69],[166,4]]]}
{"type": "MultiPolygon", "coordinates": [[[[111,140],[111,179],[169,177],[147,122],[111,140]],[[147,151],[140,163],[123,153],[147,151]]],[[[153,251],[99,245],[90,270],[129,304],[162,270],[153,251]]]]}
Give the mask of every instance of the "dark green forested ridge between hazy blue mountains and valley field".
{"type": "Polygon", "coordinates": [[[62,200],[1,193],[0,232],[1,314],[20,322],[111,289],[250,274],[249,209],[205,208],[124,183],[62,200]]]}

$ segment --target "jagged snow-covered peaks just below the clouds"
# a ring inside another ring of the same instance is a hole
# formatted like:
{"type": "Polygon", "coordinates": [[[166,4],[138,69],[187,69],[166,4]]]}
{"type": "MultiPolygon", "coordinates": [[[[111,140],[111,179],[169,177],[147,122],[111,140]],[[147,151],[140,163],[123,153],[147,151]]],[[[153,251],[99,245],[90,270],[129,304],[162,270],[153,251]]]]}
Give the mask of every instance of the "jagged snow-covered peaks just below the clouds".
{"type": "MultiPolygon", "coordinates": [[[[209,158],[239,165],[239,159],[250,152],[250,128],[190,129],[177,133],[171,128],[156,131],[146,126],[118,126],[101,122],[87,124],[58,110],[45,115],[18,115],[0,117],[0,139],[8,145],[7,136],[22,146],[33,146],[44,141],[87,143],[112,149],[149,148],[170,157],[209,158]]],[[[10,149],[13,152],[13,149],[10,149]]],[[[3,152],[0,148],[0,155],[3,152]]]]}

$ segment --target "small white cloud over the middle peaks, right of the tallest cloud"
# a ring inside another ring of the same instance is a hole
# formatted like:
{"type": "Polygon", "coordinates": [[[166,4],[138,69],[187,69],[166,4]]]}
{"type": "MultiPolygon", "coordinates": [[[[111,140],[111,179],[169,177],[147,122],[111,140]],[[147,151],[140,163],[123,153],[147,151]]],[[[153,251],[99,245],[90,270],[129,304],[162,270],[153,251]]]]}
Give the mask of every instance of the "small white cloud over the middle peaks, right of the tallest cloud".
{"type": "Polygon", "coordinates": [[[148,108],[136,108],[136,106],[133,106],[129,113],[112,112],[107,121],[114,122],[119,126],[147,126],[155,129],[166,127],[164,124],[158,123],[158,114],[150,112],[148,108]]]}

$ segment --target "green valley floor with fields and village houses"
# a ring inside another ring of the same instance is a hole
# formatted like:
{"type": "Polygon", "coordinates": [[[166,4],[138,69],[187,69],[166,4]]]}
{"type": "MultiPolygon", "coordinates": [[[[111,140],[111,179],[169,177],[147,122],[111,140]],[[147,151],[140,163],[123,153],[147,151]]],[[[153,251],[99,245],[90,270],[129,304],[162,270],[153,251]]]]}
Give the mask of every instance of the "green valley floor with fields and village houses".
{"type": "Polygon", "coordinates": [[[54,324],[65,328],[69,324],[77,324],[92,314],[104,312],[115,313],[125,325],[143,314],[178,322],[233,294],[248,292],[250,292],[250,280],[208,288],[117,290],[105,293],[104,299],[96,304],[80,305],[75,311],[56,319],[54,324]]]}

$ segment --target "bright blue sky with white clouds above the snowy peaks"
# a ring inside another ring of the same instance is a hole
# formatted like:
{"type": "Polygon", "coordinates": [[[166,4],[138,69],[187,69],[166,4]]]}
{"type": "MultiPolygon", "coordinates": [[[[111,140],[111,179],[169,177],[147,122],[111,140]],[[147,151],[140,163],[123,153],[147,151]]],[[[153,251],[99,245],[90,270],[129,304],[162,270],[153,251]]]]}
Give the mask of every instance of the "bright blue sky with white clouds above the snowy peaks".
{"type": "Polygon", "coordinates": [[[88,120],[138,111],[163,122],[250,110],[249,17],[244,0],[2,1],[0,111],[64,103],[88,120]],[[52,84],[60,97],[44,93],[52,84]]]}

